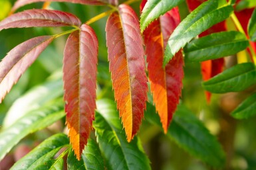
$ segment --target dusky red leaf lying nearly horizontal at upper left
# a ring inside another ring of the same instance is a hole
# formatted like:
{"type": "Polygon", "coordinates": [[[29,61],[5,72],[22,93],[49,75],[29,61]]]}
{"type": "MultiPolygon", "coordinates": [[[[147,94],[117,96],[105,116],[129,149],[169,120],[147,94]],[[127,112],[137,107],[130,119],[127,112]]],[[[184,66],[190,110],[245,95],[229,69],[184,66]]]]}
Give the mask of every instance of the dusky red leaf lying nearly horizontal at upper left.
{"type": "Polygon", "coordinates": [[[81,21],[70,13],[47,9],[31,9],[16,13],[0,22],[0,30],[33,26],[80,26],[81,21]]]}

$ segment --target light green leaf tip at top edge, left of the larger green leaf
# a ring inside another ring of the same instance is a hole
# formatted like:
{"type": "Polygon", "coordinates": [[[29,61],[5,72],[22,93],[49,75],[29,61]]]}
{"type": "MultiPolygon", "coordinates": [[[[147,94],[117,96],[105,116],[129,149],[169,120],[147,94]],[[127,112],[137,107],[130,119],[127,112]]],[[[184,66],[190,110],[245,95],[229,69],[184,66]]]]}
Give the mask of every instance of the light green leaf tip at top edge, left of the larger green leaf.
{"type": "Polygon", "coordinates": [[[140,30],[143,32],[145,28],[160,15],[170,11],[184,0],[151,0],[148,1],[142,11],[140,17],[140,30]]]}

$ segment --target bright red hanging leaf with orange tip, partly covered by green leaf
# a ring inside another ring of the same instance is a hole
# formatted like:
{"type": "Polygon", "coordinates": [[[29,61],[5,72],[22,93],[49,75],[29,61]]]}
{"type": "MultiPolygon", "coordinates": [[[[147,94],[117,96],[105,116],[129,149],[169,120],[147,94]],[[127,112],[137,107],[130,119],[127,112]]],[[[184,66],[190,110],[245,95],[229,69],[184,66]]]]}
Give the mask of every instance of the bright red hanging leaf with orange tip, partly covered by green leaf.
{"type": "Polygon", "coordinates": [[[180,51],[163,68],[164,46],[179,23],[180,15],[175,7],[144,31],[150,89],[165,133],[180,100],[184,61],[180,51]]]}

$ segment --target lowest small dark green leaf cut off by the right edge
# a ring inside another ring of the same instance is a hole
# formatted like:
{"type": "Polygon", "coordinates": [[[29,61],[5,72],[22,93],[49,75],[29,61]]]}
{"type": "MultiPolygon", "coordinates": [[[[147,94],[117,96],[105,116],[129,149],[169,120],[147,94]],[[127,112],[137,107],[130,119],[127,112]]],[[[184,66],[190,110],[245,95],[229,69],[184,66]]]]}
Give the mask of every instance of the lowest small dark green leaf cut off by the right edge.
{"type": "Polygon", "coordinates": [[[256,115],[256,93],[245,99],[231,115],[237,119],[250,118],[256,115]]]}

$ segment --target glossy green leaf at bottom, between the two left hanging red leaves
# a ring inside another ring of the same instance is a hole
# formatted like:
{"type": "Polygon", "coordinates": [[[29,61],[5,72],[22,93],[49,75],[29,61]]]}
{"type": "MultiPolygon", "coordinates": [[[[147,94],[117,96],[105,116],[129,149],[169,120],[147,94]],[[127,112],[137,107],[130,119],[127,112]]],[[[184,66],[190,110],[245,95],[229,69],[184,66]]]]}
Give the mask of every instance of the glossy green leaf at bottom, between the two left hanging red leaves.
{"type": "Polygon", "coordinates": [[[115,103],[100,100],[97,108],[94,129],[108,169],[151,169],[140,140],[135,137],[132,142],[127,142],[115,103]]]}

